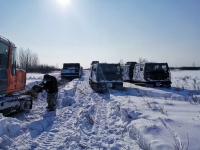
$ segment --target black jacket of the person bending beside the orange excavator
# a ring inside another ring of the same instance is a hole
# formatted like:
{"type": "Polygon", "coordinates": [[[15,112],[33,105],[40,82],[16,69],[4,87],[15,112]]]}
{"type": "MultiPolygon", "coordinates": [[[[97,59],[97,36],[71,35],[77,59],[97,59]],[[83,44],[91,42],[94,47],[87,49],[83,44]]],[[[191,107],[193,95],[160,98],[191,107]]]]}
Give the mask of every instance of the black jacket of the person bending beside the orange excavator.
{"type": "Polygon", "coordinates": [[[57,79],[54,76],[44,75],[44,79],[41,85],[43,86],[43,89],[46,90],[49,94],[58,92],[57,79]]]}

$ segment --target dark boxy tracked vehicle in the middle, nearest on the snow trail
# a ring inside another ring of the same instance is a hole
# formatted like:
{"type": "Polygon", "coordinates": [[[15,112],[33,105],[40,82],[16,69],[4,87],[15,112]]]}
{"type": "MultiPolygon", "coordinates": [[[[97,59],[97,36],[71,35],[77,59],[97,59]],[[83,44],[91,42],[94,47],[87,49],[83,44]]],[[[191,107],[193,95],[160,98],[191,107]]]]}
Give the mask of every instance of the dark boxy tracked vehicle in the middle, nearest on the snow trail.
{"type": "Polygon", "coordinates": [[[109,88],[123,89],[120,64],[92,62],[89,84],[96,92],[106,92],[109,88]]]}

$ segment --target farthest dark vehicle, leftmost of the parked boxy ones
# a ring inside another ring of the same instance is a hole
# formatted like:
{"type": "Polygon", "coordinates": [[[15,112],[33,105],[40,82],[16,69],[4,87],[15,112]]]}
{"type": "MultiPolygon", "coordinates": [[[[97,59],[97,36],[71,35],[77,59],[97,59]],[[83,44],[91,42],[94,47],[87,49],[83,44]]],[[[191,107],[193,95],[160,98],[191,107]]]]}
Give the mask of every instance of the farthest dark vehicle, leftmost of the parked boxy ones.
{"type": "Polygon", "coordinates": [[[83,73],[83,68],[80,63],[64,63],[61,70],[61,79],[80,78],[83,73]]]}

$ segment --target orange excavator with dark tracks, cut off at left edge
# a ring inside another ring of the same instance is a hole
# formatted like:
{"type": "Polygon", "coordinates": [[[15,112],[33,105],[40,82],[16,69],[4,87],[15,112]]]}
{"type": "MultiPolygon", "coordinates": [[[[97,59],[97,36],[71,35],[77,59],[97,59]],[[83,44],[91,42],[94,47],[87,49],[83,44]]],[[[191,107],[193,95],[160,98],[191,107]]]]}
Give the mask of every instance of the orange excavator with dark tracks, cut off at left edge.
{"type": "Polygon", "coordinates": [[[0,113],[10,113],[32,108],[30,95],[13,95],[25,89],[26,72],[16,68],[16,47],[0,36],[0,113]]]}

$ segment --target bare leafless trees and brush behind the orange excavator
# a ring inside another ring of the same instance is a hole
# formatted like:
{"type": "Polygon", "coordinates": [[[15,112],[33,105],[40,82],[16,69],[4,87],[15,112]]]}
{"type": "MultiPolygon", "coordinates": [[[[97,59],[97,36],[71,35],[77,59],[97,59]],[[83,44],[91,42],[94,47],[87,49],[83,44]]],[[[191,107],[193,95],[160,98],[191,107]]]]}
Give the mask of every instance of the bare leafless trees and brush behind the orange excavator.
{"type": "Polygon", "coordinates": [[[24,69],[26,72],[50,73],[59,70],[55,66],[40,64],[38,55],[29,49],[20,48],[16,60],[17,68],[24,69]]]}

